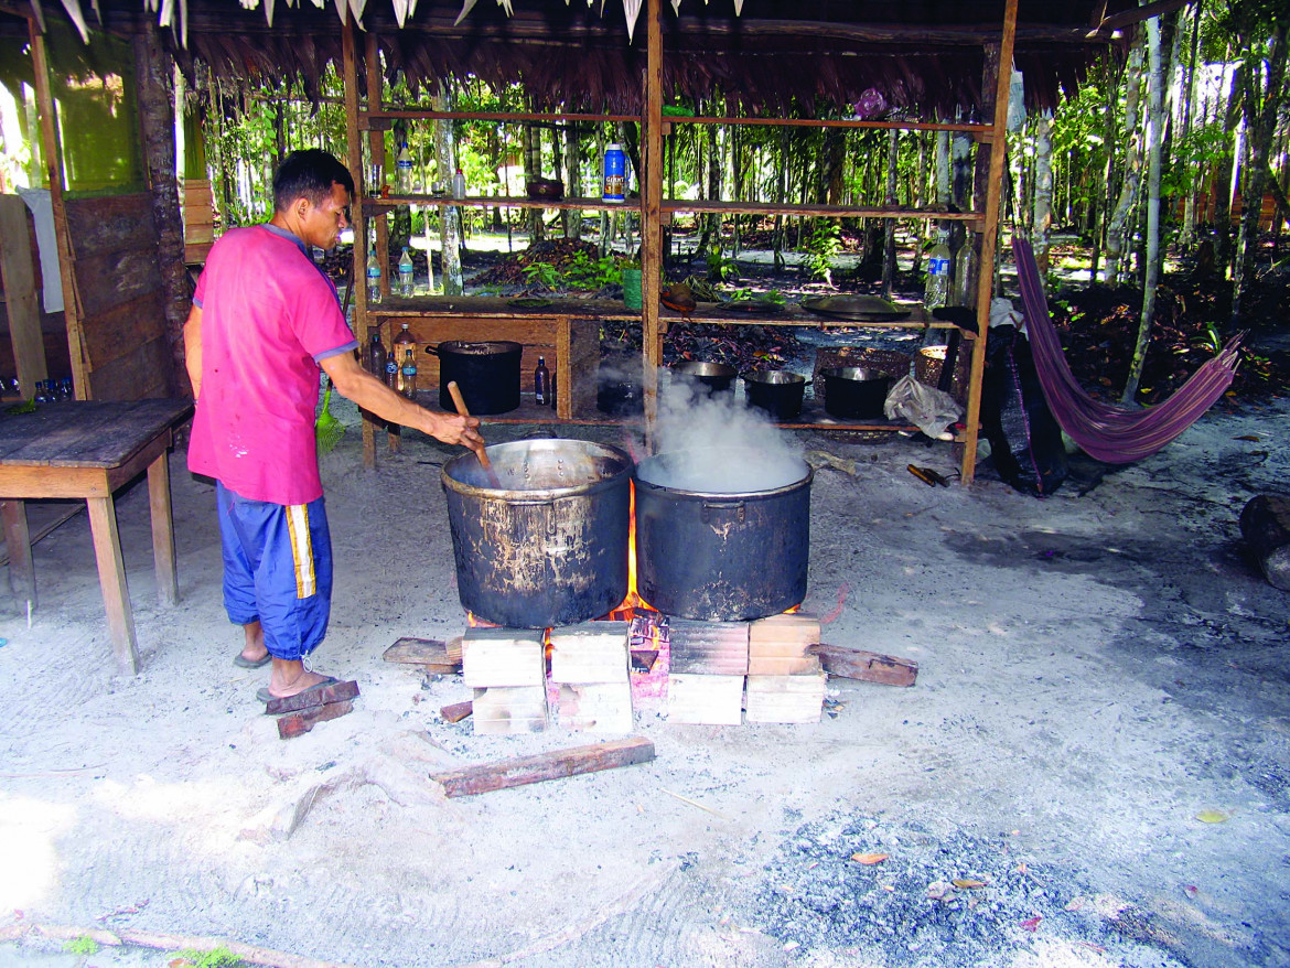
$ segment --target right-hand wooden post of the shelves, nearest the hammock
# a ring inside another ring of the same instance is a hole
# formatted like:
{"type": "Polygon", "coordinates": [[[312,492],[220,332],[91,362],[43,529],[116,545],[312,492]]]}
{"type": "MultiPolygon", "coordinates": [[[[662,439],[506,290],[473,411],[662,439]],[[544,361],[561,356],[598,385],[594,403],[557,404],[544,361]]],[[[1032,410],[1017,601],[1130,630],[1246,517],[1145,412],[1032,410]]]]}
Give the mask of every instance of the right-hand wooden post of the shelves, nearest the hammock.
{"type": "MultiPolygon", "coordinates": [[[[980,235],[980,268],[977,275],[977,338],[973,341],[971,376],[968,379],[968,414],[964,417],[964,459],[961,480],[971,484],[977,474],[977,439],[980,423],[980,383],[986,373],[986,339],[989,330],[989,301],[995,294],[995,253],[998,239],[998,214],[1004,186],[1004,161],[1007,156],[1007,94],[1013,79],[1013,43],[1017,39],[1017,0],[1007,0],[1004,12],[1004,36],[997,48],[987,48],[987,65],[996,61],[995,119],[989,145],[989,178],[986,190],[986,225],[980,235]]],[[[988,70],[988,66],[987,66],[988,70]]]]}

